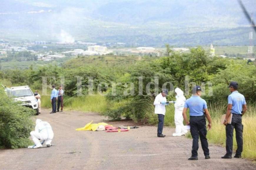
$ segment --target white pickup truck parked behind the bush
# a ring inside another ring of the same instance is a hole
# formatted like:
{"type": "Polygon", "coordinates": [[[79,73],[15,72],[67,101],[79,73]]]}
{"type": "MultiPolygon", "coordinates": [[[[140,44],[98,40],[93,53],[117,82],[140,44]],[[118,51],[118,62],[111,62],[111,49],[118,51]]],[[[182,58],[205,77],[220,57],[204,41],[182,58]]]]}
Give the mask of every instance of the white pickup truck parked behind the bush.
{"type": "Polygon", "coordinates": [[[15,101],[21,101],[22,106],[26,106],[36,110],[36,115],[39,114],[37,99],[29,86],[11,87],[7,91],[9,97],[14,98],[15,101]]]}

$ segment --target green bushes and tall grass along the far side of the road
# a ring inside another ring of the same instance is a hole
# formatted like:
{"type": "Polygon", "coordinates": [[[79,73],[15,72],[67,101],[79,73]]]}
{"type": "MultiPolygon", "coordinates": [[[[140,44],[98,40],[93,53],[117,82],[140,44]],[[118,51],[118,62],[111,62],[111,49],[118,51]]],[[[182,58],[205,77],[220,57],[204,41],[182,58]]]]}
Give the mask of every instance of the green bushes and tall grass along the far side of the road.
{"type": "MultiPolygon", "coordinates": [[[[26,70],[14,69],[0,72],[2,84],[29,85],[31,89],[42,90],[42,78],[48,78],[48,94],[50,85],[61,84],[61,77],[65,77],[66,109],[81,110],[85,112],[98,112],[106,115],[111,120],[122,118],[132,119],[135,122],[142,121],[151,125],[157,123],[154,115],[153,101],[155,94],[154,86],[150,86],[150,93],[146,95],[146,85],[154,82],[158,77],[160,90],[165,82],[172,82],[173,89],[167,99],[175,100],[174,88],[185,89],[185,81],[195,82],[204,86],[202,82],[212,84],[212,92],[209,84],[206,84],[202,98],[209,107],[213,119],[213,128],[208,132],[208,139],[212,143],[225,145],[225,126],[220,125],[220,117],[225,114],[227,107],[227,96],[230,94],[227,88],[230,81],[239,82],[239,92],[247,101],[248,112],[243,117],[244,124],[244,152],[243,157],[256,159],[256,66],[253,62],[245,60],[210,57],[207,51],[201,47],[192,48],[189,53],[173,52],[167,46],[165,57],[138,57],[138,56],[100,56],[100,57],[78,57],[68,60],[62,66],[46,65],[38,68],[30,67],[26,70]],[[77,76],[82,77],[82,91],[77,91],[77,76]],[[89,92],[89,79],[93,77],[93,96],[89,92]],[[143,77],[142,94],[140,92],[138,77],[143,77]],[[107,84],[103,86],[100,84],[107,84]],[[112,82],[118,82],[113,94],[112,82]],[[123,95],[131,93],[134,85],[134,95],[123,95]],[[98,89],[101,89],[99,93],[98,89]],[[103,94],[103,95],[102,95],[103,94]],[[210,94],[210,95],[209,95],[210,94]],[[77,96],[79,95],[79,96],[77,96]]],[[[189,85],[191,89],[192,84],[189,85]]],[[[42,96],[42,95],[41,95],[42,96]]],[[[186,98],[191,92],[186,94],[186,98]]],[[[50,108],[49,96],[42,96],[43,107],[50,108]]],[[[165,125],[174,127],[174,107],[167,106],[165,125]]],[[[223,151],[224,152],[224,151],[223,151]]]]}

